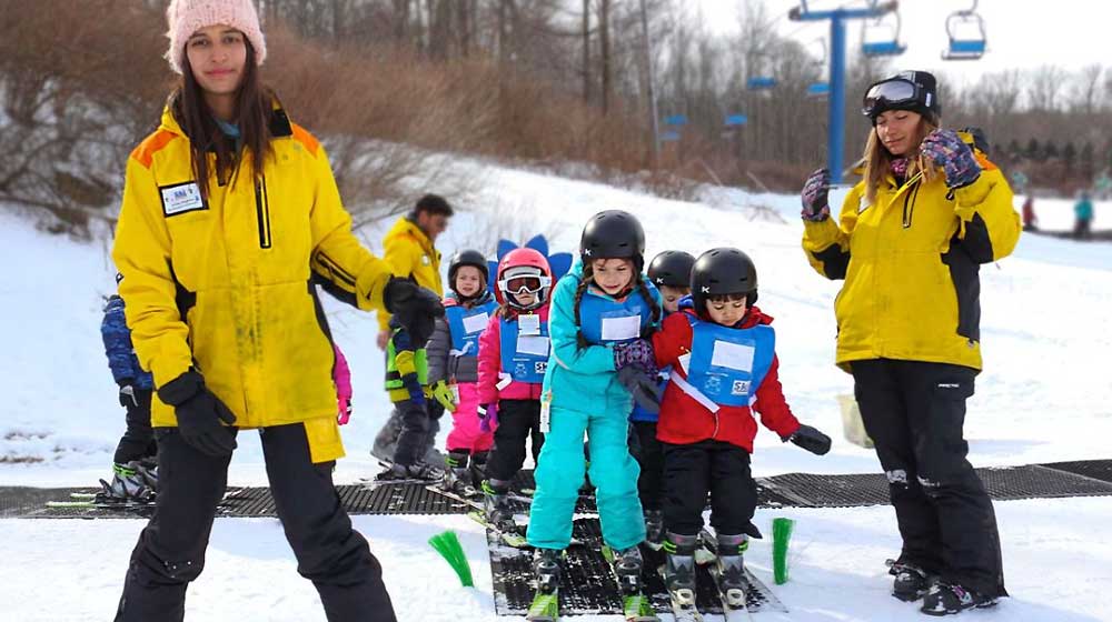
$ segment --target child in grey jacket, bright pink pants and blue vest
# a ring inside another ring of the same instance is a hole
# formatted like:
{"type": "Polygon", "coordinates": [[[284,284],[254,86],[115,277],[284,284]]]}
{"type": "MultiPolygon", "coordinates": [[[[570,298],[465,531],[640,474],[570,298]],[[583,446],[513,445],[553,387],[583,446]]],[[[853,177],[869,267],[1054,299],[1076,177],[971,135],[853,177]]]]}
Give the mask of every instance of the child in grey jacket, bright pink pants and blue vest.
{"type": "Polygon", "coordinates": [[[444,488],[471,494],[483,481],[494,434],[478,418],[479,338],[498,309],[487,288],[486,257],[463,250],[448,263],[448,288],[444,318],[438,318],[428,351],[428,394],[451,413],[444,488]]]}

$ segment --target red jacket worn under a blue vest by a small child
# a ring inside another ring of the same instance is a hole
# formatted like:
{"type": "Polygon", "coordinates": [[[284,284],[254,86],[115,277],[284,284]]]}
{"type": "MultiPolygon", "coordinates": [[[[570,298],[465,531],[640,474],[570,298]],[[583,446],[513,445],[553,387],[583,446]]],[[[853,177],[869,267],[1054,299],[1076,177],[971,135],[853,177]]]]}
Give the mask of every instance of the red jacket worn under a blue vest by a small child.
{"type": "MultiPolygon", "coordinates": [[[[684,379],[687,378],[687,373],[679,364],[679,357],[691,352],[693,338],[692,325],[685,314],[694,315],[694,311],[686,309],[668,315],[661,330],[653,335],[656,364],[661,368],[672,365],[672,373],[678,373],[684,379]]],[[[738,328],[751,328],[758,323],[770,324],[772,318],[754,307],[746,313],[738,328]]],[[[772,367],[756,390],[754,408],[761,414],[761,423],[784,439],[800,429],[800,421],[792,414],[792,409],[784,400],[778,369],[780,360],[773,355],[772,367]]],[[[753,420],[749,407],[719,407],[717,413],[712,413],[694,398],[684,393],[675,382],[668,382],[664,390],[661,419],[656,424],[656,438],[662,442],[691,444],[713,439],[735,444],[753,453],[753,439],[756,434],[757,424],[753,420]]]]}

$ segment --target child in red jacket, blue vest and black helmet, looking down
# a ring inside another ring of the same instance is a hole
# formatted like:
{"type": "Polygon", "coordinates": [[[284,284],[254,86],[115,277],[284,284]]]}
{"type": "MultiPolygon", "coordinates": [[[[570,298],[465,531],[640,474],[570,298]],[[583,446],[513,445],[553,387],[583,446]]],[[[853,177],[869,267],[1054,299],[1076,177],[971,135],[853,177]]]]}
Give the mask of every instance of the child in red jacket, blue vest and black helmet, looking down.
{"type": "Polygon", "coordinates": [[[692,269],[692,297],[653,335],[657,365],[672,367],[657,423],[667,584],[693,606],[693,554],[708,492],[722,591],[731,602],[745,602],[742,554],[747,535],[761,536],[751,522],[757,501],[749,473],[757,432],[752,410],[785,441],[818,455],[831,447],[830,438],[800,424],[787,407],[772,318],[752,305],[756,298],[756,269],[745,253],[707,251],[692,269]]]}

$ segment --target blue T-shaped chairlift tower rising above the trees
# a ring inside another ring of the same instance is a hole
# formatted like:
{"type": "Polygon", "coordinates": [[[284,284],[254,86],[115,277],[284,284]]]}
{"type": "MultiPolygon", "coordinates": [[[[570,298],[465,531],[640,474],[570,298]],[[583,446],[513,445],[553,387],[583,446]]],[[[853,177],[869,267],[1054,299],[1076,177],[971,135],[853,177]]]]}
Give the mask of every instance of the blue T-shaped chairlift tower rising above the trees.
{"type": "Polygon", "coordinates": [[[800,6],[788,12],[788,18],[795,21],[824,21],[831,22],[831,67],[830,67],[830,96],[828,96],[828,118],[830,136],[826,144],[827,167],[831,170],[831,182],[842,183],[842,170],[844,162],[845,144],[845,22],[852,19],[876,19],[886,16],[898,8],[898,2],[880,2],[871,0],[868,6],[855,9],[832,9],[827,11],[812,11],[807,9],[807,1],[800,0],[800,6]]]}

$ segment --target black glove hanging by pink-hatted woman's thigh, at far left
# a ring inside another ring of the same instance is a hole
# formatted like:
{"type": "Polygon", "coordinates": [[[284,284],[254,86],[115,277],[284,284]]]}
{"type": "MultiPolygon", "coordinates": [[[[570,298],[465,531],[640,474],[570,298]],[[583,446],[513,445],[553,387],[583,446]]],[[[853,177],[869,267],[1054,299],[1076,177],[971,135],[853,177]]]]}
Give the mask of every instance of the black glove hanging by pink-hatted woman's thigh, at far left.
{"type": "Polygon", "coordinates": [[[178,433],[187,443],[209,455],[231,455],[236,434],[220,422],[232,425],[236,415],[205,387],[201,374],[187,371],[159,388],[158,398],[173,407],[178,433]]]}

